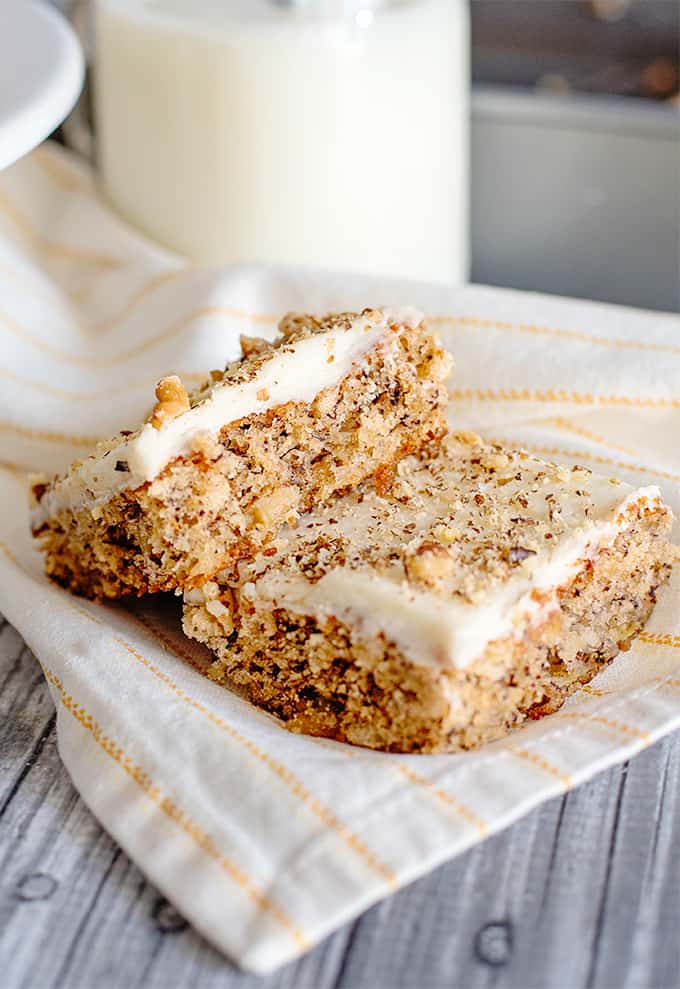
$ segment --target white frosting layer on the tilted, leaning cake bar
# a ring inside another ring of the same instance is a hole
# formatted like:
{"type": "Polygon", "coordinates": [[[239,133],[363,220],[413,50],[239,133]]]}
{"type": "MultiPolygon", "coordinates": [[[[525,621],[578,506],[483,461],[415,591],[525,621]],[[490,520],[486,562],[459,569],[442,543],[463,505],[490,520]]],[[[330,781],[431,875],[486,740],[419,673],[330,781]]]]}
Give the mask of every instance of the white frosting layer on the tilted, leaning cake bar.
{"type": "Polygon", "coordinates": [[[407,307],[367,310],[338,325],[329,321],[323,332],[277,348],[245,380],[227,374],[201,392],[200,402],[160,428],[147,422],[74,466],[44,494],[32,513],[33,526],[65,509],[95,507],[152,481],[173,460],[190,453],[199,436],[216,435],[230,422],[288,402],[311,402],[360,364],[390,325],[415,328],[422,319],[407,307]]]}

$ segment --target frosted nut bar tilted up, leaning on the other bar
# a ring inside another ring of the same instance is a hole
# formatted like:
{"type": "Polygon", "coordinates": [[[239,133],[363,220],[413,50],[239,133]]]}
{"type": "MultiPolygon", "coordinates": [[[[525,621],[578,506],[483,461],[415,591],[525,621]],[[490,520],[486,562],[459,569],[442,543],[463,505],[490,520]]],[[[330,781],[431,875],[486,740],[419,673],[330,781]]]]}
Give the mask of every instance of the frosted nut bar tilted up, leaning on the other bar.
{"type": "Polygon", "coordinates": [[[116,598],[200,585],[285,522],[445,433],[450,359],[411,309],[289,316],[273,343],[188,395],[163,379],[149,420],[36,480],[47,573],[116,598]]]}

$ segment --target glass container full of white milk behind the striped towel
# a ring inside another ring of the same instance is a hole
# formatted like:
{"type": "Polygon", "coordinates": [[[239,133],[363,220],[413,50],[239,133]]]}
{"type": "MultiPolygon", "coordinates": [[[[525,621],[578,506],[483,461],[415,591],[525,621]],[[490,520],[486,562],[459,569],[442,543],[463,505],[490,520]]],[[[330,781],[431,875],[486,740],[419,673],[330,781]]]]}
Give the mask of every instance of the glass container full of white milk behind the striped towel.
{"type": "Polygon", "coordinates": [[[98,0],[108,198],[201,262],[468,274],[465,0],[98,0]]]}

